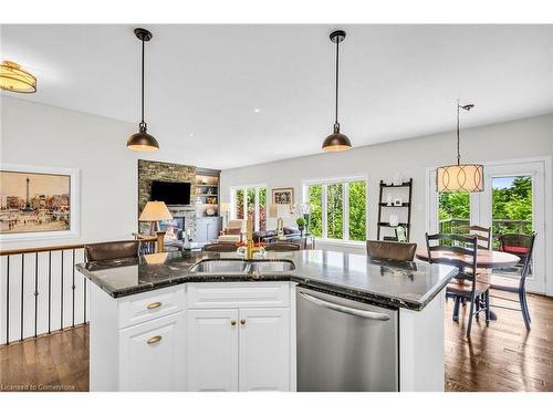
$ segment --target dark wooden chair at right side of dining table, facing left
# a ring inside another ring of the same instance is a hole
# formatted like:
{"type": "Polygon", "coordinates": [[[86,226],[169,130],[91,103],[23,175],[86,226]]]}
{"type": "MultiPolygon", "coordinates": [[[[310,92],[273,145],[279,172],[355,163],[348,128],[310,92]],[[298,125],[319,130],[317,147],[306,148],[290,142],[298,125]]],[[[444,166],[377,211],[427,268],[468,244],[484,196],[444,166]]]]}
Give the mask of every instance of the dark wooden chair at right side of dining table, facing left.
{"type": "Polygon", "coordinates": [[[513,293],[518,294],[518,297],[519,297],[518,300],[509,299],[505,297],[499,297],[499,295],[491,295],[491,297],[494,299],[503,300],[503,301],[519,302],[520,309],[515,309],[512,307],[504,307],[504,305],[495,305],[495,304],[493,304],[491,307],[494,307],[498,309],[522,312],[522,319],[524,320],[524,325],[526,326],[526,330],[530,330],[530,323],[532,322],[532,319],[530,318],[530,310],[528,308],[525,282],[526,282],[526,276],[530,271],[530,263],[532,261],[532,253],[534,251],[535,236],[536,236],[535,232],[532,232],[532,235],[530,236],[529,251],[523,257],[524,259],[522,261],[522,271],[521,271],[521,276],[518,280],[512,279],[512,278],[497,276],[493,273],[478,276],[478,280],[480,282],[484,282],[484,283],[490,284],[490,287],[494,290],[503,291],[503,292],[513,292],[513,293]]]}

